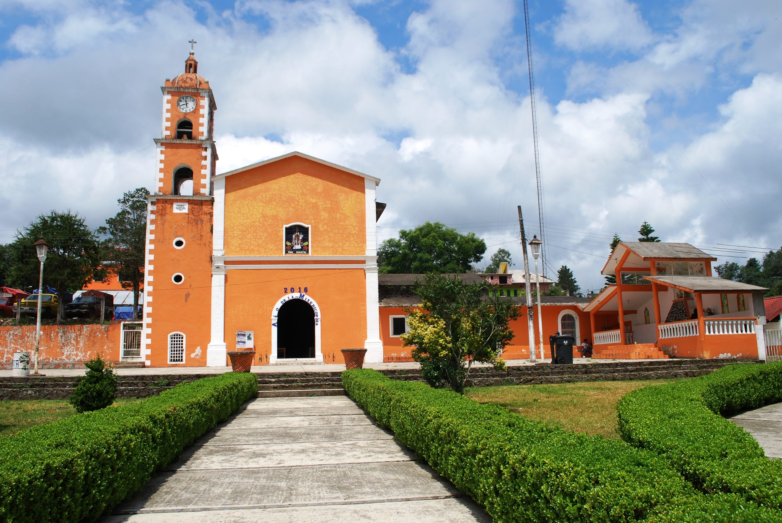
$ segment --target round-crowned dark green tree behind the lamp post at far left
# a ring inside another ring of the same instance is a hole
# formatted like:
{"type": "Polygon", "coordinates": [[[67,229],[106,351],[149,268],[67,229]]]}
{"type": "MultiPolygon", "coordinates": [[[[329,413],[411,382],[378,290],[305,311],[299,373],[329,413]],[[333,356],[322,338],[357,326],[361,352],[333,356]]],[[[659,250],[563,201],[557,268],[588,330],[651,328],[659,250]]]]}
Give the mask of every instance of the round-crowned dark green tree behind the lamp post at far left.
{"type": "MultiPolygon", "coordinates": [[[[11,244],[11,280],[17,286],[38,287],[38,257],[33,244],[43,238],[49,244],[44,265],[44,285],[52,286],[59,296],[81,290],[99,272],[98,237],[78,213],[49,212],[40,215],[11,244]]],[[[57,321],[63,318],[65,302],[58,300],[57,321]]]]}

